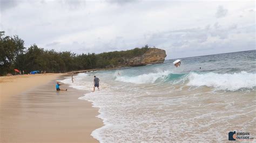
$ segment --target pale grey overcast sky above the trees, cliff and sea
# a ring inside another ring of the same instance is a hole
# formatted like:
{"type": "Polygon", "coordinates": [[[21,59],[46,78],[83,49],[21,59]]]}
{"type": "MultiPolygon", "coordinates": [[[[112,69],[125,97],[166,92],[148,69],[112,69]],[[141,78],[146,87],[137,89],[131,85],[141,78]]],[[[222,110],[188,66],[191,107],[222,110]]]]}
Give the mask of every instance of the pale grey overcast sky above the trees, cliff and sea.
{"type": "Polygon", "coordinates": [[[167,58],[255,49],[254,1],[0,0],[0,31],[74,53],[149,45],[167,58]]]}

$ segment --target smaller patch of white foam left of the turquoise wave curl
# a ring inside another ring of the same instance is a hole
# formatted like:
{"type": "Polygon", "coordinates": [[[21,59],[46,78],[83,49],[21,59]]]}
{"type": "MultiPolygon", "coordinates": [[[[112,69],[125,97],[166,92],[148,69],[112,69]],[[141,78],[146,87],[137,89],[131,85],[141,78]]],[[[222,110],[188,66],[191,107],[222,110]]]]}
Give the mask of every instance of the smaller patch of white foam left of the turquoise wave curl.
{"type": "Polygon", "coordinates": [[[164,79],[170,73],[171,71],[165,70],[165,71],[159,71],[158,73],[142,74],[138,76],[117,76],[116,81],[134,83],[134,84],[154,83],[159,78],[164,79]]]}

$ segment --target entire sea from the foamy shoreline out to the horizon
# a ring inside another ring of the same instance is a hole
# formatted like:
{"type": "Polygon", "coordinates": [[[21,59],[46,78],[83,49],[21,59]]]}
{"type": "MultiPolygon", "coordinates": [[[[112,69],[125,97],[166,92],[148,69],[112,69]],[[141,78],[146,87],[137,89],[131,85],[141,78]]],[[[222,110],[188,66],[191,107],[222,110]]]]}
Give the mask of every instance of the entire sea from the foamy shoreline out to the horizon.
{"type": "Polygon", "coordinates": [[[62,82],[89,92],[79,99],[99,108],[100,142],[227,141],[230,131],[255,135],[256,51],[82,73],[62,82]],[[200,69],[201,67],[201,69],[200,69]],[[100,90],[90,92],[93,75],[100,90]]]}

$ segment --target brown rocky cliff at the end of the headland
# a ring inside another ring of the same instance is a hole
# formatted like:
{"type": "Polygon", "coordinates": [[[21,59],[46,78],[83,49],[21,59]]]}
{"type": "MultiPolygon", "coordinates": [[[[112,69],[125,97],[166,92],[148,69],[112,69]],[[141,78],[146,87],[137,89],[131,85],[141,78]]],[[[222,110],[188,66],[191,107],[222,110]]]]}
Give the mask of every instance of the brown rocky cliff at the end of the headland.
{"type": "Polygon", "coordinates": [[[163,63],[166,53],[163,49],[149,48],[143,55],[124,59],[125,66],[144,66],[153,63],[163,63]]]}

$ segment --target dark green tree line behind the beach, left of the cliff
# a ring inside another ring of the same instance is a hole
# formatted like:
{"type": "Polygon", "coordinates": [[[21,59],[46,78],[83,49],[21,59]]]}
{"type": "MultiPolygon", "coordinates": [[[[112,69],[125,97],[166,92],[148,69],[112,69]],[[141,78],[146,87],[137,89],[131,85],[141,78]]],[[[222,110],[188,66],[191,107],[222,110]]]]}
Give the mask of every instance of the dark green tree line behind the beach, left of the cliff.
{"type": "Polygon", "coordinates": [[[11,37],[0,31],[0,75],[14,74],[14,69],[24,70],[24,73],[32,70],[64,73],[72,70],[124,66],[126,59],[142,55],[148,49],[149,46],[145,45],[142,48],[100,54],[56,52],[54,49],[40,48],[36,44],[26,48],[24,40],[18,35],[11,37]]]}

